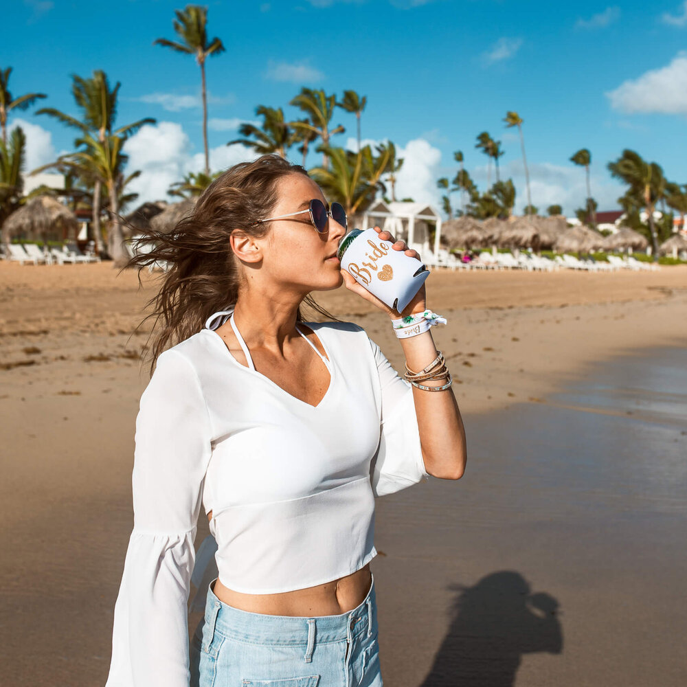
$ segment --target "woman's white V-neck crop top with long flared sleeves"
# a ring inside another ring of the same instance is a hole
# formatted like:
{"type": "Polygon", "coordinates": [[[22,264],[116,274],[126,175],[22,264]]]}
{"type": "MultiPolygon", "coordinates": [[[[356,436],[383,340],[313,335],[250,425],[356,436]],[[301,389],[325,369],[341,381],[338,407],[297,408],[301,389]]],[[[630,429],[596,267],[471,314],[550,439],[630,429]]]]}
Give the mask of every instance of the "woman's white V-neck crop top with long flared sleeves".
{"type": "Polygon", "coordinates": [[[317,406],[249,366],[214,331],[161,353],[136,418],[134,525],[115,602],[106,687],[188,687],[188,596],[201,513],[218,577],[275,594],[359,570],[374,556],[374,497],[427,477],[412,386],[363,328],[304,322],[326,352],[317,406]]]}

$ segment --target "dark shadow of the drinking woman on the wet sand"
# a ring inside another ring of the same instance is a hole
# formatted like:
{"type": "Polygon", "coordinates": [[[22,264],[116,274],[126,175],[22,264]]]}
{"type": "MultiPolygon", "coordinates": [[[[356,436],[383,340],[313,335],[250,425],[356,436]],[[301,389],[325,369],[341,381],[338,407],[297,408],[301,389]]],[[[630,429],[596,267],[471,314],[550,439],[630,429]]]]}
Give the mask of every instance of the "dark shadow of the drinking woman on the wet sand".
{"type": "Polygon", "coordinates": [[[451,627],[420,687],[513,687],[523,653],[563,651],[559,604],[517,572],[455,584],[451,627]]]}

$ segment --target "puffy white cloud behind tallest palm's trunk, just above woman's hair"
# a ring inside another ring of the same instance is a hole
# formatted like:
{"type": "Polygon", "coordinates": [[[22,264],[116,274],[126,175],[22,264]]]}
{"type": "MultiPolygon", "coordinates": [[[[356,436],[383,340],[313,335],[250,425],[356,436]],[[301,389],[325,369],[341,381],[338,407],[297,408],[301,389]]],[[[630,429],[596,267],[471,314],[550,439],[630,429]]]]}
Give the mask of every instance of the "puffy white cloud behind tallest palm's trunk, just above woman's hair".
{"type": "MultiPolygon", "coordinates": [[[[199,172],[205,166],[205,155],[194,153],[188,135],[180,124],[159,122],[146,124],[124,144],[129,156],[128,170],[142,174],[128,188],[139,194],[137,203],[169,200],[167,191],[174,181],[181,181],[188,172],[199,172]]],[[[237,162],[256,159],[249,148],[218,146],[210,149],[210,168],[223,170],[237,162]]]]}

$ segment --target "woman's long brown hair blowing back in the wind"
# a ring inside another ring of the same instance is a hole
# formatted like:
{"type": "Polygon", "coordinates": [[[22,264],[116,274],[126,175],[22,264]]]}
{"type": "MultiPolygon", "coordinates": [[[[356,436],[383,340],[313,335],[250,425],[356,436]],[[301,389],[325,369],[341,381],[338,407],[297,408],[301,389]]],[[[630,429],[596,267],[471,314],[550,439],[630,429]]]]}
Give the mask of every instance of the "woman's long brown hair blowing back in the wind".
{"type": "MultiPolygon", "coordinates": [[[[269,223],[251,225],[269,216],[278,201],[277,181],[287,174],[308,172],[279,155],[262,155],[252,162],[240,162],[215,179],[201,194],[194,210],[183,216],[171,232],[152,228],[138,230],[139,250],[122,269],[141,270],[150,264],[167,265],[157,295],[146,303],[154,306],[138,329],[155,317],[148,339],[150,372],[161,352],[198,332],[216,311],[236,304],[240,270],[229,243],[229,234],[240,227],[254,238],[263,238],[269,223]],[[161,320],[161,323],[160,323],[161,320]]],[[[304,303],[326,319],[341,322],[319,306],[311,295],[304,303]]],[[[302,322],[300,307],[296,319],[302,322]]]]}

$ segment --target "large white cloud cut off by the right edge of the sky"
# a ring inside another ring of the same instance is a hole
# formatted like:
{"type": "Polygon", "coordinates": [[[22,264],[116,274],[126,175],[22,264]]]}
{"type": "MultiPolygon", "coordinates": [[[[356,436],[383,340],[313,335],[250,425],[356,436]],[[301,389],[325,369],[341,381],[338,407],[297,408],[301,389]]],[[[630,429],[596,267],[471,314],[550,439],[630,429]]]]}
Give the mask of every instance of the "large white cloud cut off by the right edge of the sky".
{"type": "Polygon", "coordinates": [[[687,52],[681,50],[666,67],[629,79],[606,96],[622,112],[687,114],[687,52]]]}

